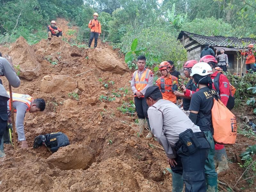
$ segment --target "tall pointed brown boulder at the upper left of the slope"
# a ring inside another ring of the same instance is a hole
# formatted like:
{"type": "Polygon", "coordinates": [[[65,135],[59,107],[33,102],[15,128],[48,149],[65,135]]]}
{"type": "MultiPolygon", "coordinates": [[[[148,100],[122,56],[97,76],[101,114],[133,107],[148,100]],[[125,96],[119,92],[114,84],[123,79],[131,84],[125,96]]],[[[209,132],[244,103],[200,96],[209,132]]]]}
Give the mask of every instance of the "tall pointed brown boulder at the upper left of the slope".
{"type": "Polygon", "coordinates": [[[22,36],[12,45],[9,55],[12,56],[14,65],[20,65],[20,77],[31,80],[39,76],[41,65],[36,60],[34,49],[28,45],[22,36]]]}

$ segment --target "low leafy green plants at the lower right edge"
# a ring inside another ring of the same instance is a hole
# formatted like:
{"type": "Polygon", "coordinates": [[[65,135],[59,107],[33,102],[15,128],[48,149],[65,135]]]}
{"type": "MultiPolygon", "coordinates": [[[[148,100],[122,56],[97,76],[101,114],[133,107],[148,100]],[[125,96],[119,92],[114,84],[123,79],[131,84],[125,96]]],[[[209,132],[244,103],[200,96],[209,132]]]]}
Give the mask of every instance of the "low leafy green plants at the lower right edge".
{"type": "Polygon", "coordinates": [[[241,168],[244,168],[244,179],[246,179],[247,183],[251,185],[254,183],[256,178],[256,145],[249,146],[245,152],[240,154],[241,160],[244,160],[244,164],[239,164],[241,168]],[[254,158],[253,158],[254,157],[254,158]],[[254,159],[254,160],[253,160],[254,159]]]}

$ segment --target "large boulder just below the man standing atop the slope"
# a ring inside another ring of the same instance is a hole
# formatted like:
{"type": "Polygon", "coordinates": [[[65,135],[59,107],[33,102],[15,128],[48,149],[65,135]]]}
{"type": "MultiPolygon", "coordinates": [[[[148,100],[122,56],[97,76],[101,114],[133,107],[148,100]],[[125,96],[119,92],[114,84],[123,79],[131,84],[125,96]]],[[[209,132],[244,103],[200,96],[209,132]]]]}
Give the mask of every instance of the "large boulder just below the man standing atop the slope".
{"type": "Polygon", "coordinates": [[[108,48],[96,48],[93,52],[93,61],[101,71],[115,71],[116,74],[124,74],[128,71],[127,65],[123,60],[108,48]]]}

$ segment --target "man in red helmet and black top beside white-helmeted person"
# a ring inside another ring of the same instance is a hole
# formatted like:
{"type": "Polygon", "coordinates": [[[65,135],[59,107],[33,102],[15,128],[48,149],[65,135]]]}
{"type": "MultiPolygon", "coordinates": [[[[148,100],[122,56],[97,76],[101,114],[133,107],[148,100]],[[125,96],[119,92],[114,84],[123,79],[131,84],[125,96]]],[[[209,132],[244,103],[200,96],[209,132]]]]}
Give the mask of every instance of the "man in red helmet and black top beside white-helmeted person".
{"type": "MultiPolygon", "coordinates": [[[[190,76],[191,73],[191,68],[198,63],[197,60],[188,60],[184,66],[183,66],[183,71],[184,71],[184,75],[185,77],[189,78],[189,81],[186,85],[186,87],[184,85],[180,86],[180,90],[183,92],[186,92],[188,90],[189,91],[196,91],[196,85],[193,83],[192,77],[190,76]]],[[[183,110],[185,112],[185,114],[188,116],[189,115],[189,105],[190,105],[190,100],[191,100],[191,95],[189,94],[189,96],[185,97],[184,93],[178,92],[178,91],[174,91],[174,95],[176,95],[176,97],[182,97],[182,103],[183,103],[183,110]]]]}

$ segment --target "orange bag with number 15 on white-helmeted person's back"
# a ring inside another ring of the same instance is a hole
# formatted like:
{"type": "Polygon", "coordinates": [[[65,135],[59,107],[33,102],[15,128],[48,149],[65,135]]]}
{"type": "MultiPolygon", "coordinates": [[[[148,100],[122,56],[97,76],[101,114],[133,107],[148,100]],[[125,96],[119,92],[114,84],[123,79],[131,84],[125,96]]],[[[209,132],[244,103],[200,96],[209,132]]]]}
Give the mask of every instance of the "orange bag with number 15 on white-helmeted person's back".
{"type": "Polygon", "coordinates": [[[236,142],[236,116],[221,102],[213,98],[212,107],[213,139],[218,144],[236,142]]]}

